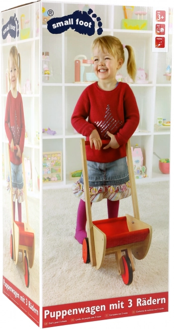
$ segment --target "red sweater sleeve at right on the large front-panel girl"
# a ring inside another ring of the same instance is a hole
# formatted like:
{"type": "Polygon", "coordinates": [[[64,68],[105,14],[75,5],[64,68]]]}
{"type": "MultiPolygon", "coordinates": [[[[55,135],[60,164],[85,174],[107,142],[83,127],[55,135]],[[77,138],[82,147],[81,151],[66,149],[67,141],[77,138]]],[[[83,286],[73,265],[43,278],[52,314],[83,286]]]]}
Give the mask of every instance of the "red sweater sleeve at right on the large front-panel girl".
{"type": "Polygon", "coordinates": [[[115,139],[121,146],[126,144],[138,127],[140,115],[135,96],[129,85],[126,86],[124,99],[124,126],[115,135],[115,139]]]}

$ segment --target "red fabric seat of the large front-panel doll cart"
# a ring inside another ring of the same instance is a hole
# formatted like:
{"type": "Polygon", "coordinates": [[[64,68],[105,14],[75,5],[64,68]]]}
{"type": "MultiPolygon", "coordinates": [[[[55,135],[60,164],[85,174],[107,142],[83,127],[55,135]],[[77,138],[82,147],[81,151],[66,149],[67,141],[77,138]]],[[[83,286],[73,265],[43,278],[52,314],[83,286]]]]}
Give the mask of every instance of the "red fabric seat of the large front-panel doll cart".
{"type": "Polygon", "coordinates": [[[126,216],[95,220],[92,222],[106,235],[106,248],[141,242],[150,233],[149,228],[129,232],[126,216]]]}

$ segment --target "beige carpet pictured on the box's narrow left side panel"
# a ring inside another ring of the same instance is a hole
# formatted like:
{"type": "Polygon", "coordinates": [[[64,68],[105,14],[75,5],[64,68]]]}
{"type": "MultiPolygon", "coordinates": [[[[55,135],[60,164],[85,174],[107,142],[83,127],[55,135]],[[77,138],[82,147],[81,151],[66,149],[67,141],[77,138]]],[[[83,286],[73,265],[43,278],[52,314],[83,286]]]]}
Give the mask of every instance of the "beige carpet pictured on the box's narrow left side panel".
{"type": "MultiPolygon", "coordinates": [[[[22,253],[19,252],[18,263],[15,265],[10,257],[11,201],[10,194],[3,187],[3,276],[22,293],[39,305],[39,199],[28,197],[29,225],[35,231],[34,264],[29,269],[29,287],[26,288],[23,275],[22,253]]],[[[17,208],[17,201],[16,201],[17,208]]],[[[16,217],[17,209],[16,209],[16,217]]],[[[22,221],[26,221],[25,202],[22,202],[22,221]]]]}

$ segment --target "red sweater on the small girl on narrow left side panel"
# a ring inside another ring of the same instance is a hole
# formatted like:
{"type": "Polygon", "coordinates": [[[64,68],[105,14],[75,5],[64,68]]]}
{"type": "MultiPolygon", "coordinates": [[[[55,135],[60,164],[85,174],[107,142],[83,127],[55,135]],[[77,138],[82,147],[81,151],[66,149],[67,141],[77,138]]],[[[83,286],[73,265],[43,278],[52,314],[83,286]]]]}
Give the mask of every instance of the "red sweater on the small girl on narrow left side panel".
{"type": "MultiPolygon", "coordinates": [[[[25,140],[25,121],[22,97],[19,92],[17,93],[16,98],[12,96],[11,91],[9,91],[7,95],[5,109],[5,132],[9,145],[13,139],[14,146],[17,144],[22,154],[25,140]]],[[[22,157],[17,157],[16,153],[16,150],[14,150],[14,152],[9,150],[10,162],[14,165],[20,165],[22,163],[22,157]]]]}

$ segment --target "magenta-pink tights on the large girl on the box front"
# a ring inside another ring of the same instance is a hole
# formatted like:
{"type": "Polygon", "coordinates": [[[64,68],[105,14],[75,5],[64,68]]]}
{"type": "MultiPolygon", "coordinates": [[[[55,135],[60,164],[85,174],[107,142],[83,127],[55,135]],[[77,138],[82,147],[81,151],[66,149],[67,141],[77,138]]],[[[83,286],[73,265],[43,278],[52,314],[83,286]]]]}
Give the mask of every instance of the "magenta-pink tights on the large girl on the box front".
{"type": "MultiPolygon", "coordinates": [[[[92,205],[92,203],[90,203],[92,205]]],[[[118,217],[118,209],[119,209],[119,200],[110,201],[107,199],[107,213],[108,218],[118,217]]],[[[76,234],[75,238],[79,243],[83,243],[83,240],[87,237],[86,232],[86,224],[87,224],[87,214],[86,214],[86,204],[82,199],[80,200],[77,214],[77,225],[76,225],[76,234]]]]}

